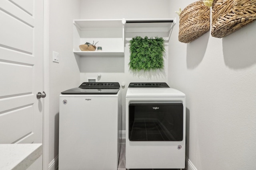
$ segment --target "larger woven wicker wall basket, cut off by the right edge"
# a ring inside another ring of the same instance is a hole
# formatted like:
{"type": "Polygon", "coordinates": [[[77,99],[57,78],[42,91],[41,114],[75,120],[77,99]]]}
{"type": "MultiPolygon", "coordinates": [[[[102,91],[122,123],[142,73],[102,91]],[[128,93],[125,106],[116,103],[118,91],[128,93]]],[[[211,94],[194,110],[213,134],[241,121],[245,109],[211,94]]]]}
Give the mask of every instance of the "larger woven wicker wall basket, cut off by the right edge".
{"type": "Polygon", "coordinates": [[[222,38],[256,19],[256,0],[214,0],[213,37],[222,38]]]}

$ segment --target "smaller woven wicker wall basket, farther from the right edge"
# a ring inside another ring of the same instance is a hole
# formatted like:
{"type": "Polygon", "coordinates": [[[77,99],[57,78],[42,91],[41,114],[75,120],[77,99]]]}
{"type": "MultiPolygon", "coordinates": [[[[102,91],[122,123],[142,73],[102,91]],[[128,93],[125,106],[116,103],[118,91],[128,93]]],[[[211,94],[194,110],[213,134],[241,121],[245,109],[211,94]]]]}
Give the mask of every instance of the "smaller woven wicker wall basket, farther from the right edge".
{"type": "Polygon", "coordinates": [[[210,8],[202,0],[187,6],[180,13],[179,41],[189,43],[210,30],[210,8]]]}

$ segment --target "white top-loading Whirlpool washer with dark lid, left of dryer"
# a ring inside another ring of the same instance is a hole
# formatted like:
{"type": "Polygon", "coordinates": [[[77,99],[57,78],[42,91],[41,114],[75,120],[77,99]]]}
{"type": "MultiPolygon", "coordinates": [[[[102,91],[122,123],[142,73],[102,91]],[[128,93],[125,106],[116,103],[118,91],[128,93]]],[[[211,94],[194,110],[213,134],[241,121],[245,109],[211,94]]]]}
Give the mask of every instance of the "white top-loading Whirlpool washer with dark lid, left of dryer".
{"type": "Polygon", "coordinates": [[[62,92],[59,170],[116,170],[121,119],[119,83],[84,82],[62,92]]]}

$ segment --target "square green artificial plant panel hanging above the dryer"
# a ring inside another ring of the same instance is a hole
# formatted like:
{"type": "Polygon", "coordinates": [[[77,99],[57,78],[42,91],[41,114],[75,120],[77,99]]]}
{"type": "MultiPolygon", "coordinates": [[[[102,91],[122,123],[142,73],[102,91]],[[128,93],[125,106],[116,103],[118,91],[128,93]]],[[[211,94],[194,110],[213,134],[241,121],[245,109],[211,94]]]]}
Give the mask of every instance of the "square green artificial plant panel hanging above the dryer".
{"type": "Polygon", "coordinates": [[[164,39],[136,36],[130,40],[130,69],[156,70],[164,68],[164,39]]]}

